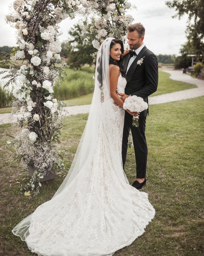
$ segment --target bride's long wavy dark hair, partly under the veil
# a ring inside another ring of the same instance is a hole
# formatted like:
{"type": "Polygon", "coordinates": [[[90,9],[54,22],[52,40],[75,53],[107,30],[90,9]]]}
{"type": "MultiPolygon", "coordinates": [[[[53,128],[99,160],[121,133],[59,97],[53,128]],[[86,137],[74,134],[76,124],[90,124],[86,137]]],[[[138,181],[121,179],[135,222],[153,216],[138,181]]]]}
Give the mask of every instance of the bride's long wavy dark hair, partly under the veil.
{"type": "MultiPolygon", "coordinates": [[[[115,44],[120,44],[121,45],[121,53],[123,54],[124,52],[124,46],[123,46],[123,42],[119,39],[112,39],[110,42],[110,49],[115,45],[115,44]]],[[[103,50],[101,51],[102,54],[103,50]]],[[[120,60],[119,61],[114,61],[113,58],[110,56],[109,57],[109,64],[113,64],[116,65],[120,68],[120,73],[123,77],[125,77],[124,74],[124,69],[123,69],[123,65],[122,65],[122,61],[123,61],[123,56],[120,56],[120,60]]],[[[97,72],[98,72],[98,76],[97,76],[97,80],[99,81],[99,88],[101,89],[103,86],[103,77],[102,77],[102,73],[103,73],[103,68],[102,68],[102,59],[101,57],[99,57],[98,59],[98,67],[97,67],[97,72]]]]}

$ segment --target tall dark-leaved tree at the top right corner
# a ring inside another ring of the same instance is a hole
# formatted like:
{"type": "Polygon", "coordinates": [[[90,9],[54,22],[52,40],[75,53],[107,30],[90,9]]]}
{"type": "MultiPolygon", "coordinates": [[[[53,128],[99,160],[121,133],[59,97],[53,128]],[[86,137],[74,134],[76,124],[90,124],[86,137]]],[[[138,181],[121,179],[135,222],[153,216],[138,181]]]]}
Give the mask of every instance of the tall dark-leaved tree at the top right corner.
{"type": "Polygon", "coordinates": [[[176,10],[173,18],[188,15],[185,48],[188,54],[195,54],[199,61],[200,55],[204,56],[204,0],[172,0],[166,4],[176,10]]]}

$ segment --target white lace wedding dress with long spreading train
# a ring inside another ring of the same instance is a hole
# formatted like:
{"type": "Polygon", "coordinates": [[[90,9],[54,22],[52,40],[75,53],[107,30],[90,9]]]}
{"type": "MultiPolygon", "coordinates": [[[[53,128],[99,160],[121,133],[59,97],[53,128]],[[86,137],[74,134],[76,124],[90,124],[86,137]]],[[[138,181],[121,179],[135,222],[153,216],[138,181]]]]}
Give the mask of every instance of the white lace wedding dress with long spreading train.
{"type": "MultiPolygon", "coordinates": [[[[126,79],[118,79],[124,93],[126,79]]],[[[40,205],[13,234],[46,256],[106,256],[144,233],[155,210],[148,195],[132,187],[122,168],[123,108],[102,103],[92,153],[68,185],[40,205]],[[109,125],[108,131],[107,125],[109,125]],[[109,136],[110,135],[110,136],[109,136]]]]}

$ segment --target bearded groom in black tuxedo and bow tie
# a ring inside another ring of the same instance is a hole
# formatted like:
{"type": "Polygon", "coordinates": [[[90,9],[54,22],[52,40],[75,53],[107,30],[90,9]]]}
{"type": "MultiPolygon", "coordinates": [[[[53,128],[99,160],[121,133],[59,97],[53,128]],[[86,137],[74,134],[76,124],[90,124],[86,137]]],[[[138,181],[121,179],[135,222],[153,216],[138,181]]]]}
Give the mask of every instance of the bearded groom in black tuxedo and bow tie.
{"type": "MultiPolygon", "coordinates": [[[[136,95],[148,103],[148,96],[157,90],[158,85],[158,60],[143,43],[145,28],[141,23],[127,26],[127,39],[130,50],[124,56],[123,67],[126,72],[127,85],[125,94],[121,99],[136,95]]],[[[136,159],[136,180],[132,184],[136,189],[141,189],[146,183],[146,167],[148,148],[145,138],[145,124],[148,110],[139,115],[139,126],[132,126],[132,116],[125,111],[125,122],[122,139],[123,169],[126,162],[128,136],[131,130],[136,159]]]]}

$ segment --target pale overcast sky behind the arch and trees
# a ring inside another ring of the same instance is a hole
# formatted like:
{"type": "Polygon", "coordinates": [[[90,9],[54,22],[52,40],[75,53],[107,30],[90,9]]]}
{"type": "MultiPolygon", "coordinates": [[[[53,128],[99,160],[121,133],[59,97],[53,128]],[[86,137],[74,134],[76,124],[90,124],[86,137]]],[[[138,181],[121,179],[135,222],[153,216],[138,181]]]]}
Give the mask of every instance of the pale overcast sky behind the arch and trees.
{"type": "MultiPolygon", "coordinates": [[[[141,22],[145,27],[144,43],[156,55],[175,54],[179,55],[181,45],[186,42],[185,29],[187,16],[172,18],[175,14],[174,9],[169,9],[165,5],[166,0],[129,0],[135,4],[137,9],[128,10],[134,18],[133,23],[141,22]]],[[[6,0],[0,3],[0,46],[16,45],[16,29],[10,27],[5,21],[5,16],[10,13],[9,6],[13,0],[6,0]]],[[[60,23],[62,35],[60,41],[68,39],[68,30],[76,24],[82,17],[76,17],[73,20],[67,18],[60,23]]]]}

